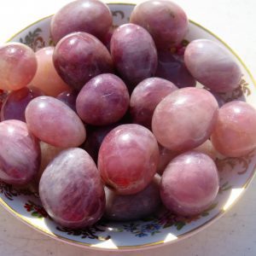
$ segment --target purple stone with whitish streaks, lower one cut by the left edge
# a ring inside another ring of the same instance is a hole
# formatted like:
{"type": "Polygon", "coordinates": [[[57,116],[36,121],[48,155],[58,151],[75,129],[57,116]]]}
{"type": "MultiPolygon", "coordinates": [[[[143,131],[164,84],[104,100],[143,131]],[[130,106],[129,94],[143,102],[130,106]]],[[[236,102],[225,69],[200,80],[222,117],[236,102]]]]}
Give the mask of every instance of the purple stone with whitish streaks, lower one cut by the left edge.
{"type": "Polygon", "coordinates": [[[0,179],[5,183],[29,183],[38,172],[40,147],[38,139],[20,120],[0,123],[0,179]]]}

